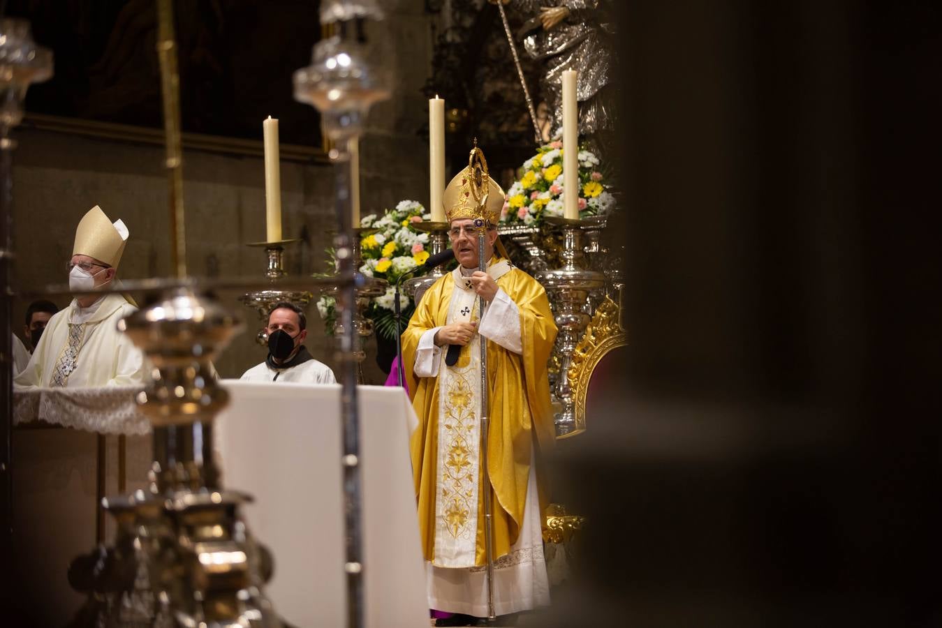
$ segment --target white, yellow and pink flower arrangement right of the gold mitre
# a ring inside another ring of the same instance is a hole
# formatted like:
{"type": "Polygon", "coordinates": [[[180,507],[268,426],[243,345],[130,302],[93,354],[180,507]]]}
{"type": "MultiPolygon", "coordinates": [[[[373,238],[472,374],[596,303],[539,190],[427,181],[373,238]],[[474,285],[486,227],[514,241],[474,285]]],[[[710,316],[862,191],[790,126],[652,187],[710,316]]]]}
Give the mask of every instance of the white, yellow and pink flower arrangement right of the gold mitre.
{"type": "MultiPolygon", "coordinates": [[[[605,176],[598,168],[598,157],[580,150],[578,162],[579,217],[608,214],[615,198],[603,183],[605,176]]],[[[562,200],[567,192],[562,185],[562,142],[541,146],[524,162],[521,171],[523,174],[507,191],[500,212],[501,224],[539,225],[544,216],[562,216],[562,200]]]]}

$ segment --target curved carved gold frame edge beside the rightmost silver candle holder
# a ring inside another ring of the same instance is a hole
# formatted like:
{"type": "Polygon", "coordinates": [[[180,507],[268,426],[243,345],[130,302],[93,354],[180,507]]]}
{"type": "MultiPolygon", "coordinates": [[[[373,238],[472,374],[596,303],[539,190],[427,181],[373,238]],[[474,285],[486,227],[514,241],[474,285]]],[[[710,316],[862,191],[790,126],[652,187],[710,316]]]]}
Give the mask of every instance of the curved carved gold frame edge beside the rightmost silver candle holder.
{"type": "Polygon", "coordinates": [[[620,320],[621,314],[621,306],[606,297],[595,309],[595,315],[586,328],[585,335],[573,351],[573,360],[569,365],[569,380],[573,382],[576,428],[560,436],[560,439],[585,431],[586,402],[593,371],[609,351],[628,344],[627,332],[620,320]]]}

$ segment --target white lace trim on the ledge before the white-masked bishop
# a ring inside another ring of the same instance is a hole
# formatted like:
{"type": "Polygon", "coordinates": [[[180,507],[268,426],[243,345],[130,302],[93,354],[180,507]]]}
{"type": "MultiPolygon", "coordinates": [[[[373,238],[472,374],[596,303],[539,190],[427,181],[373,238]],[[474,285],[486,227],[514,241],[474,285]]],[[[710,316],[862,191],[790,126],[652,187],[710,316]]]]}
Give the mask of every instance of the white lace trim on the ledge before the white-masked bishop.
{"type": "Polygon", "coordinates": [[[142,386],[107,386],[14,391],[13,425],[40,420],[99,434],[150,434],[151,423],[135,401],[142,390],[142,386]]]}

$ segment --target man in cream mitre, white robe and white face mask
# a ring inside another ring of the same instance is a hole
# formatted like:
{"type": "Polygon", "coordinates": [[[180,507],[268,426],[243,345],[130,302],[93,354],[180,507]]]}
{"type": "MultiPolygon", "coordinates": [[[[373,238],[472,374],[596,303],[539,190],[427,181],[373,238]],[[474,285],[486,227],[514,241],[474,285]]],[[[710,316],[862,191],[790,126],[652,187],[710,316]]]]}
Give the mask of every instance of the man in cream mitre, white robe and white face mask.
{"type": "MultiPolygon", "coordinates": [[[[95,205],[75,230],[68,263],[73,291],[113,285],[128,238],[122,220],[113,223],[95,205]]],[[[143,356],[118,330],[118,321],[137,311],[120,294],[87,295],[54,314],[16,388],[127,386],[143,381],[143,356]]]]}

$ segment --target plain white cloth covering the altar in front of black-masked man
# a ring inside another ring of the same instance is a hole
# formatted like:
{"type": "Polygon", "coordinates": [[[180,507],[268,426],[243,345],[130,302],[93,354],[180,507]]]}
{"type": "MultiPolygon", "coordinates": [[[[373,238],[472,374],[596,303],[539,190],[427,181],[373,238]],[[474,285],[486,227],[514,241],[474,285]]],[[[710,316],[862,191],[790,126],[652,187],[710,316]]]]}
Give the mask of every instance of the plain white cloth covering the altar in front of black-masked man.
{"type": "MultiPolygon", "coordinates": [[[[340,386],[226,379],[216,421],[222,485],[275,570],[266,591],[299,626],[346,625],[340,386]]],[[[418,420],[400,388],[360,386],[365,626],[429,625],[409,434],[418,420]]]]}

